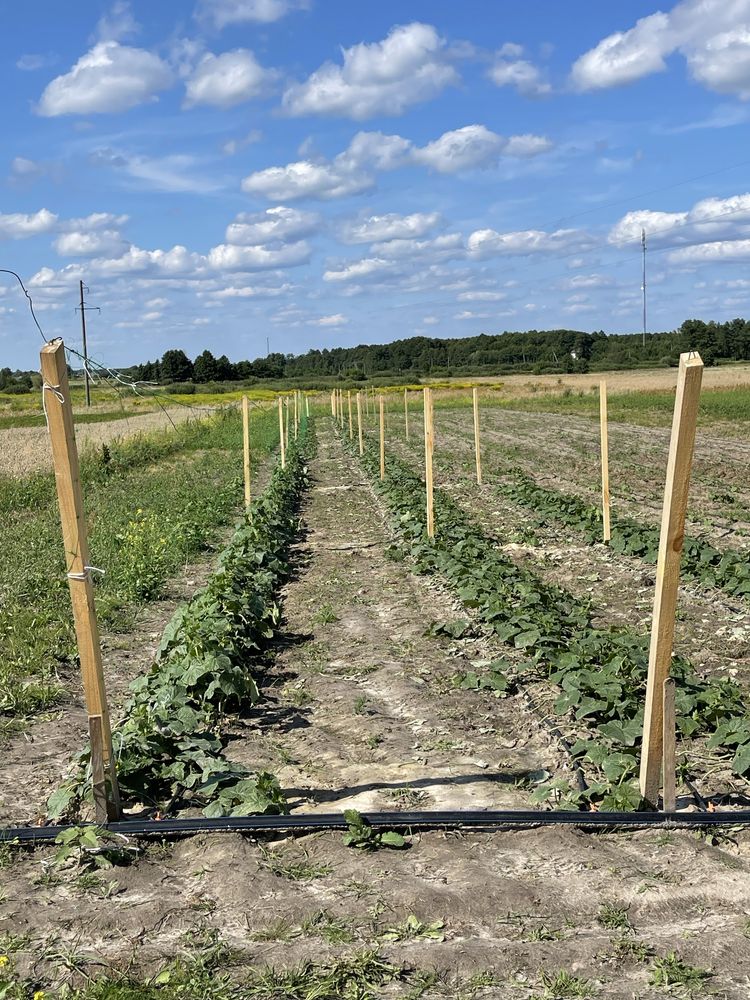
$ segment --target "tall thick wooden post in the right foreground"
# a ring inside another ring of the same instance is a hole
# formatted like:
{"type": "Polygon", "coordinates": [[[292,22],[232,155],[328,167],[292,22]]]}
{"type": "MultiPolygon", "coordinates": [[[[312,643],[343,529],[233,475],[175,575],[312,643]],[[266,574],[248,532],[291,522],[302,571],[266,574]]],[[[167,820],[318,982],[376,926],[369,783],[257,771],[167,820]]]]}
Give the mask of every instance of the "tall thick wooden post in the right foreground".
{"type": "Polygon", "coordinates": [[[656,804],[659,794],[664,734],[664,681],[669,676],[672,660],[680,556],[685,534],[685,513],[702,378],[703,362],[700,355],[681,354],[664,489],[659,558],[656,564],[656,593],[641,750],[641,795],[651,805],[656,804]]]}

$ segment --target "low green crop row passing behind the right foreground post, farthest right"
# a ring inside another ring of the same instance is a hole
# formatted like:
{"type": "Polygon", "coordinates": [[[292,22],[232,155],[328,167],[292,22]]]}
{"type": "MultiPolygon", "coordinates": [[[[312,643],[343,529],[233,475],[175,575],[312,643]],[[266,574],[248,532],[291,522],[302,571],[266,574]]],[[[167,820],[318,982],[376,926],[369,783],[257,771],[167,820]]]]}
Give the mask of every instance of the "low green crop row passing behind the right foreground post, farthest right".
{"type": "MultiPolygon", "coordinates": [[[[602,540],[602,512],[580,497],[539,486],[521,470],[513,479],[497,485],[514,503],[531,507],[539,523],[554,519],[579,531],[594,545],[602,540]]],[[[659,553],[659,528],[618,515],[612,519],[610,548],[655,563],[659,553]]],[[[750,561],[742,552],[717,549],[699,538],[685,537],[681,573],[705,586],[717,587],[737,596],[750,595],[750,561]]]]}

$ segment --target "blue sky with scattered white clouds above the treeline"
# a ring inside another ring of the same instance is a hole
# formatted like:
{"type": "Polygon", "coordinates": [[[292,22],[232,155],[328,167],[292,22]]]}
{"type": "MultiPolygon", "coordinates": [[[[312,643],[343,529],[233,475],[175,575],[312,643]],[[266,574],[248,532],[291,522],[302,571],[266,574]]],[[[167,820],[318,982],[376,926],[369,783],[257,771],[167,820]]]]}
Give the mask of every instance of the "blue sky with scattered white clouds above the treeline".
{"type": "Polygon", "coordinates": [[[112,365],[639,331],[641,228],[649,329],[750,315],[750,0],[28,0],[0,84],[0,267],[112,365]]]}

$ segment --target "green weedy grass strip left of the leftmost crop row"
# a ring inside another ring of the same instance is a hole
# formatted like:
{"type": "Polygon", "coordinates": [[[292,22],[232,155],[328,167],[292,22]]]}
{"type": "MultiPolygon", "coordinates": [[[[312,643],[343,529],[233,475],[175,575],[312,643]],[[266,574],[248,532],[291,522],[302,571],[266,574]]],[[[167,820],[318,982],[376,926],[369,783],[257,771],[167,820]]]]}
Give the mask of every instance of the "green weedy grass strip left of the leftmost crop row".
{"type": "MultiPolygon", "coordinates": [[[[254,471],[278,446],[278,418],[253,413],[254,471]]],[[[212,546],[242,497],[242,422],[236,411],[113,441],[82,467],[99,621],[133,627],[137,609],[212,546]],[[176,450],[174,450],[176,449],[176,450]]],[[[54,476],[0,476],[0,733],[49,708],[75,670],[76,642],[54,476]],[[60,673],[62,672],[62,678],[60,673]]]]}

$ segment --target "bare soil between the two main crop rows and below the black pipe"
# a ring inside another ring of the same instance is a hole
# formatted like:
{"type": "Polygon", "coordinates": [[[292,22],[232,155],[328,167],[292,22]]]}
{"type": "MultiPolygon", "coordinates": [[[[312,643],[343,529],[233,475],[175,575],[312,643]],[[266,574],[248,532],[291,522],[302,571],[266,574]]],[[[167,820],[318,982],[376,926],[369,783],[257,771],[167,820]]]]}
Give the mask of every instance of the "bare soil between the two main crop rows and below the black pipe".
{"type": "MultiPolygon", "coordinates": [[[[294,811],[528,806],[535,772],[564,766],[547,730],[520,700],[451,685],[494,650],[424,637],[456,606],[384,557],[381,508],[327,427],[311,470],[266,698],[229,752],[272,766],[294,811]]],[[[51,856],[13,855],[0,903],[15,971],[46,996],[71,979],[143,978],[176,957],[207,970],[212,989],[225,973],[242,981],[274,966],[278,988],[248,997],[646,1000],[665,995],[649,985],[665,963],[693,970],[696,996],[747,996],[744,832],[713,845],[657,831],[436,831],[372,853],[332,833],[221,834],[152,844],[133,865],[86,877],[51,856]],[[308,961],[312,988],[323,966],[366,949],[400,970],[393,981],[373,973],[359,993],[281,985],[308,961]]]]}

